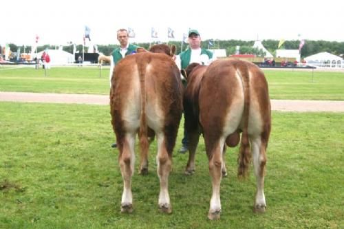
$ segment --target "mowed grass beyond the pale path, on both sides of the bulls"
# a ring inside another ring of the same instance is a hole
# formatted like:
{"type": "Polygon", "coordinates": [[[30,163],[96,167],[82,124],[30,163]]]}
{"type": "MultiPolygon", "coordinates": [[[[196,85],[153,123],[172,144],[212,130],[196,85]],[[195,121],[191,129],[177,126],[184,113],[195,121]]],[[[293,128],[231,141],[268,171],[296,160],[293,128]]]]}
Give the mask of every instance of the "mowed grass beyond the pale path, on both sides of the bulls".
{"type": "MultiPolygon", "coordinates": [[[[344,100],[344,72],[264,69],[272,99],[344,100]]],[[[109,67],[0,68],[0,91],[109,94],[109,67]]]]}

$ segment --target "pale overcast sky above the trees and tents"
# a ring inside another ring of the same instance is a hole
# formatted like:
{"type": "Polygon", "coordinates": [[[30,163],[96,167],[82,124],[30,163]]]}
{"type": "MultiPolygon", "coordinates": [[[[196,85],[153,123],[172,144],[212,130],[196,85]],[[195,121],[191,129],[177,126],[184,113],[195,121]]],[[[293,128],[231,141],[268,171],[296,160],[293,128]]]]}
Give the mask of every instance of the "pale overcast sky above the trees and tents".
{"type": "MultiPolygon", "coordinates": [[[[133,28],[131,42],[149,42],[151,28],[167,41],[167,28],[181,41],[189,28],[206,39],[344,41],[344,1],[226,0],[6,0],[1,1],[0,44],[118,44],[116,30],[133,28]],[[111,2],[111,3],[110,3],[111,2]]],[[[156,40],[156,39],[155,39],[156,40]]]]}

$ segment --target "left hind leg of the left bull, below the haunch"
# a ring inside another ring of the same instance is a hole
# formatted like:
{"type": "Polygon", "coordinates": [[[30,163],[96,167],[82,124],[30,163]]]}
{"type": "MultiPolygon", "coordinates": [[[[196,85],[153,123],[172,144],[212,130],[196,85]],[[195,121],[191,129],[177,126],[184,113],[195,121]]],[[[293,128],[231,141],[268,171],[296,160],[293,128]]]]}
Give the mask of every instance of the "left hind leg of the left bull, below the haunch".
{"type": "Polygon", "coordinates": [[[135,163],[135,133],[127,133],[120,144],[120,172],[123,178],[123,193],[121,201],[121,212],[133,211],[133,195],[131,194],[131,177],[133,176],[133,167],[135,163]]]}

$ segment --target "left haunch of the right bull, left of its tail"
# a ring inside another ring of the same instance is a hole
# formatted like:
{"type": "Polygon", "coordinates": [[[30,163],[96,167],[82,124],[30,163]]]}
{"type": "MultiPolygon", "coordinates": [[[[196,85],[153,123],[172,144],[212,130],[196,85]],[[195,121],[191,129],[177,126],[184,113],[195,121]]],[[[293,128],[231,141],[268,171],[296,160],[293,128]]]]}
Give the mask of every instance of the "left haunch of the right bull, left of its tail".
{"type": "Polygon", "coordinates": [[[219,60],[209,65],[199,100],[200,122],[204,129],[216,130],[214,138],[237,129],[244,111],[244,87],[233,63],[219,60]]]}

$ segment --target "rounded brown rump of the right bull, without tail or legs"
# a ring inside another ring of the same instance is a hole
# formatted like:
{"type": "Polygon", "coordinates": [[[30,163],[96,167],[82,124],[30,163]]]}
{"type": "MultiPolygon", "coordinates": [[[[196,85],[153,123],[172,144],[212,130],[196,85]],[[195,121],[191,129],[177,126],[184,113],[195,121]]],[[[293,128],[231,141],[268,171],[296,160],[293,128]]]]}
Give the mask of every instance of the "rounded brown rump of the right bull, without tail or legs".
{"type": "Polygon", "coordinates": [[[226,138],[243,129],[245,102],[249,106],[250,135],[261,134],[264,124],[270,124],[266,78],[259,67],[246,61],[219,60],[209,65],[202,78],[199,101],[200,122],[204,130],[213,131],[213,138],[226,138]],[[248,101],[245,101],[245,90],[249,93],[248,101]]]}

